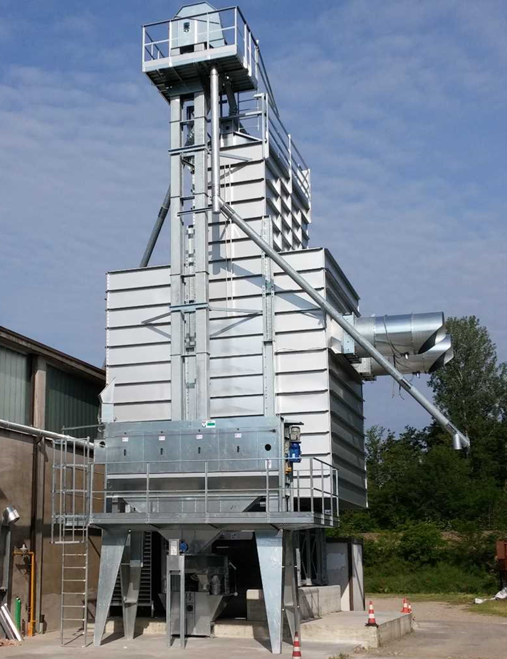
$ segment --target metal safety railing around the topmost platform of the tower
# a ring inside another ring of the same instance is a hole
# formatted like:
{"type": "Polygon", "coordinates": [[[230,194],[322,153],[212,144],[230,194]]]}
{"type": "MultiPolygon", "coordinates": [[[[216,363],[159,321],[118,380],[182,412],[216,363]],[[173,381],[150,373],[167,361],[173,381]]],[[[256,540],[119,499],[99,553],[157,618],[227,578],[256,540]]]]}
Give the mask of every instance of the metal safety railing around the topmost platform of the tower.
{"type": "Polygon", "coordinates": [[[167,60],[164,64],[172,66],[179,56],[191,48],[194,48],[193,52],[199,51],[203,58],[211,50],[219,56],[219,49],[226,46],[235,46],[236,55],[244,68],[252,77],[258,78],[257,42],[239,7],[226,7],[194,16],[176,16],[168,21],[142,26],[143,65],[155,60],[167,60]]]}

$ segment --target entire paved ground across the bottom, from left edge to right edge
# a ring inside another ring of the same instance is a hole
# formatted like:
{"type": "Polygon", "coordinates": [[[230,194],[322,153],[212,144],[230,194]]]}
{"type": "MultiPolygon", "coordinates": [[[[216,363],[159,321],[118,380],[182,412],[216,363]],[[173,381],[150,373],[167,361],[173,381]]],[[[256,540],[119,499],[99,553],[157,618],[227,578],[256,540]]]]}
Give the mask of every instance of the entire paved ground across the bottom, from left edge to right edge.
{"type": "MultiPolygon", "coordinates": [[[[375,611],[392,611],[399,599],[377,598],[375,611]]],[[[414,633],[385,648],[358,651],[354,645],[303,643],[303,659],[507,659],[507,618],[481,616],[465,606],[442,602],[414,603],[414,633]]],[[[127,642],[118,634],[105,638],[100,648],[61,648],[57,633],[30,638],[16,648],[0,648],[0,659],[58,658],[116,659],[258,659],[271,656],[262,641],[243,638],[191,638],[187,649],[168,650],[164,637],[138,636],[127,642]]],[[[284,644],[282,657],[291,657],[291,646],[284,644]]]]}

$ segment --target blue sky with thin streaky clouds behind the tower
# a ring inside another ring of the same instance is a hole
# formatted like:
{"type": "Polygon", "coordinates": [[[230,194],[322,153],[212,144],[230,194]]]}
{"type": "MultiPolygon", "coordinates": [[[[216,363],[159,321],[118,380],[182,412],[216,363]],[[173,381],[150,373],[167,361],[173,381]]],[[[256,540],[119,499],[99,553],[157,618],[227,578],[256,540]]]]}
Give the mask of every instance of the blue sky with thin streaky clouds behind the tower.
{"type": "MultiPolygon", "coordinates": [[[[137,265],[167,185],[168,107],[140,72],[140,25],[178,8],[0,0],[0,324],[95,364],[105,272],[137,265]]],[[[362,312],[476,314],[507,359],[507,4],[241,8],[312,168],[311,244],[362,312]]],[[[368,425],[427,422],[388,379],[365,399],[368,425]]]]}

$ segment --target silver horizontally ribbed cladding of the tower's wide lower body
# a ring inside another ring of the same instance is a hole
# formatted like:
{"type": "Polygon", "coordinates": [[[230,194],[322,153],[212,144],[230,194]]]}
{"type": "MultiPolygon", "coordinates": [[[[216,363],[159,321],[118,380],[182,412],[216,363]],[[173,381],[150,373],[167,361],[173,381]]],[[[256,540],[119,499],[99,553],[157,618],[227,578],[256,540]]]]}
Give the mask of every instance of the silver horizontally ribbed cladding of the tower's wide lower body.
{"type": "MultiPolygon", "coordinates": [[[[237,258],[233,252],[227,268],[219,259],[223,251],[210,268],[212,418],[263,413],[264,328],[263,316],[255,313],[262,310],[261,258],[255,253],[237,258]],[[221,307],[248,314],[233,315],[221,307]]],[[[354,290],[325,250],[293,251],[285,257],[340,310],[355,309],[354,290]]],[[[304,453],[340,468],[345,503],[365,505],[361,381],[342,355],[328,349],[335,328],[322,310],[274,270],[276,410],[287,420],[303,421],[304,453]]],[[[108,381],[117,376],[118,420],[170,418],[170,318],[143,323],[169,310],[169,272],[145,268],[108,275],[108,381]]]]}

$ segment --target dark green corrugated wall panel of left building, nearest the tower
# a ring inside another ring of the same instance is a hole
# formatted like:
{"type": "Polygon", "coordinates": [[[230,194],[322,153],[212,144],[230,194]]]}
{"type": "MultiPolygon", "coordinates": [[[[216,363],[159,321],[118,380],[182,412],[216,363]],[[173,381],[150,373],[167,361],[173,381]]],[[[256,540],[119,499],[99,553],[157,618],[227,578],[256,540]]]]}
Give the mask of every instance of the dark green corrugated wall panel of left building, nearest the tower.
{"type": "MultiPolygon", "coordinates": [[[[46,376],[46,429],[60,433],[66,426],[97,423],[100,386],[59,369],[48,367],[46,376]]],[[[73,431],[78,437],[95,436],[95,431],[73,431]]]]}

